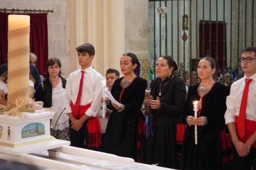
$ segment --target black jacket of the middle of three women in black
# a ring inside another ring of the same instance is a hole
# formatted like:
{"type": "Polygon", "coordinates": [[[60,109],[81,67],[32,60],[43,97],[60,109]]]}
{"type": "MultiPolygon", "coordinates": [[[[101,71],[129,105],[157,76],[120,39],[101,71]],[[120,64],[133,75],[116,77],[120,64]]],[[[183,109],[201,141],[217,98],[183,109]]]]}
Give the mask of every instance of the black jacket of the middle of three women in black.
{"type": "MultiPolygon", "coordinates": [[[[155,78],[151,82],[151,91],[153,99],[159,97],[160,78],[155,78]]],[[[166,85],[161,90],[160,109],[151,109],[154,115],[155,126],[170,125],[173,123],[181,123],[181,114],[184,111],[186,94],[185,84],[177,76],[167,78],[166,85]]]]}

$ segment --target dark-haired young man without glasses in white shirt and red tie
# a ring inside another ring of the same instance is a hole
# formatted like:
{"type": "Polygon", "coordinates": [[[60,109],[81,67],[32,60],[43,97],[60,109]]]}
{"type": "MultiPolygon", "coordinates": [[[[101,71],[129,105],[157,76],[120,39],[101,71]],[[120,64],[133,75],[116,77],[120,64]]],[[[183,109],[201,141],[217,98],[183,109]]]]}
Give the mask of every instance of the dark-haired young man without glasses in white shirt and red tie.
{"type": "Polygon", "coordinates": [[[92,68],[92,44],[82,44],[76,51],[80,68],[69,74],[65,89],[70,141],[71,146],[95,150],[101,144],[97,113],[102,105],[102,75],[92,68]]]}

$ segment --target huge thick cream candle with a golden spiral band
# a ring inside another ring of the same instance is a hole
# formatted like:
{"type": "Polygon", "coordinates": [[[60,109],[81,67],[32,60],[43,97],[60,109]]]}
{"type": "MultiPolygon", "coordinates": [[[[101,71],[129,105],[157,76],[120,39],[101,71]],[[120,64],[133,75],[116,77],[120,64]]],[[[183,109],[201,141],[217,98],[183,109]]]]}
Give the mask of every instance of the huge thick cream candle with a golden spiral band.
{"type": "Polygon", "coordinates": [[[8,104],[28,98],[30,16],[8,16],[8,104]]]}

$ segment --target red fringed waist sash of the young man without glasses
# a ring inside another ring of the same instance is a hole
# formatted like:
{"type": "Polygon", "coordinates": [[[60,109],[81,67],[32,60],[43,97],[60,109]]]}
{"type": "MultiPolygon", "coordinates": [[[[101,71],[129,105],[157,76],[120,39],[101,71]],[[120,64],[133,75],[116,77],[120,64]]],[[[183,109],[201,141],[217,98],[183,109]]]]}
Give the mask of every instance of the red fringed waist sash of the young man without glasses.
{"type": "MultiPolygon", "coordinates": [[[[84,116],[85,111],[90,108],[90,103],[88,105],[79,106],[78,110],[75,108],[73,103],[70,103],[72,114],[75,118],[81,118],[84,116]],[[76,111],[77,110],[77,111],[76,111]]],[[[101,145],[101,124],[98,117],[90,117],[87,122],[88,130],[88,147],[100,147],[101,145]]]]}

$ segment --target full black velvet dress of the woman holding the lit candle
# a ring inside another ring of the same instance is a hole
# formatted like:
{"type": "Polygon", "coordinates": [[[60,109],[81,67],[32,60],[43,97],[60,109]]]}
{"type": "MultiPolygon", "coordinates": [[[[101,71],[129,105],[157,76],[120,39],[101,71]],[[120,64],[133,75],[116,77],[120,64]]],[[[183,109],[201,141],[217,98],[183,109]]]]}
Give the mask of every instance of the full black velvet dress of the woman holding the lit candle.
{"type": "MultiPolygon", "coordinates": [[[[187,124],[188,115],[194,115],[193,101],[199,101],[199,84],[188,89],[183,122],[187,124]]],[[[203,97],[200,116],[207,117],[207,125],[197,126],[198,144],[195,144],[195,126],[188,126],[183,140],[181,167],[183,170],[222,169],[220,133],[224,129],[226,97],[229,88],[216,82],[203,97]]]]}

